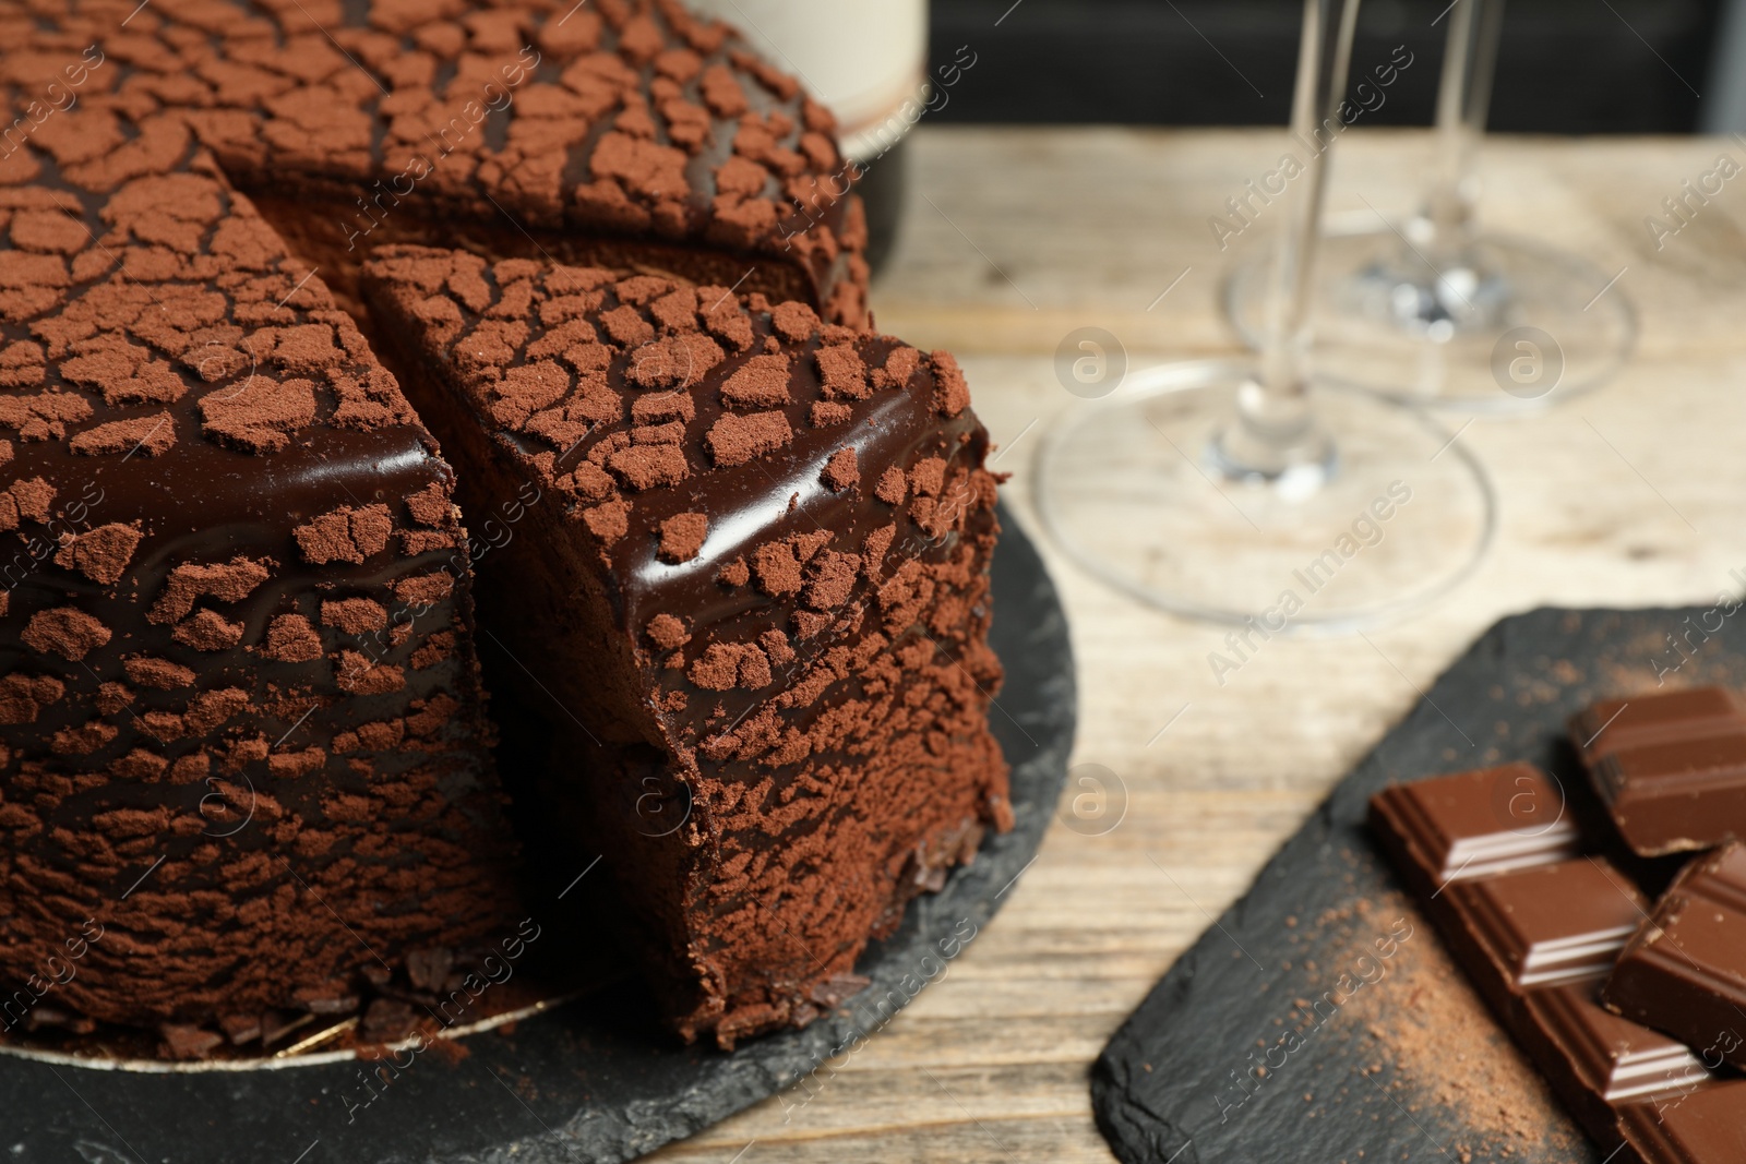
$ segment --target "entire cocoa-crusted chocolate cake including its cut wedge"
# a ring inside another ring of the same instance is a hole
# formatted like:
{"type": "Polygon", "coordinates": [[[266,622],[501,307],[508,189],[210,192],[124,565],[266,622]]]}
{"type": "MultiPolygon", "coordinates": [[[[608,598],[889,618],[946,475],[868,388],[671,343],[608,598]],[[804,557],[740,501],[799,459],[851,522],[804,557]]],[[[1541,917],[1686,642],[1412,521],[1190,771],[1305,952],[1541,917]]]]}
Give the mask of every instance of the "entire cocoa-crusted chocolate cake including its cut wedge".
{"type": "Polygon", "coordinates": [[[829,115],[670,0],[65,7],[0,10],[0,1038],[515,932],[475,607],[677,1030],[852,991],[1009,808],[986,435],[861,330],[829,115]]]}

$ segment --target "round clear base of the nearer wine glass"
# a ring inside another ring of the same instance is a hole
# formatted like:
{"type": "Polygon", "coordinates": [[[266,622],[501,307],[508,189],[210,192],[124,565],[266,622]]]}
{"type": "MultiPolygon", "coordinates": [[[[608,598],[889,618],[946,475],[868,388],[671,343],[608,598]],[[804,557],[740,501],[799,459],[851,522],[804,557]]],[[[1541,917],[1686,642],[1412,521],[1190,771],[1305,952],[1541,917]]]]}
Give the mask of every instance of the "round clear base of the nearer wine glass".
{"type": "MultiPolygon", "coordinates": [[[[1479,462],[1421,410],[1336,384],[1311,401],[1336,461],[1315,487],[1220,471],[1210,448],[1252,368],[1128,375],[1037,452],[1042,524],[1105,583],[1255,644],[1418,607],[1479,564],[1496,522],[1479,462]]],[[[1231,665],[1241,660],[1231,656],[1231,665]]]]}

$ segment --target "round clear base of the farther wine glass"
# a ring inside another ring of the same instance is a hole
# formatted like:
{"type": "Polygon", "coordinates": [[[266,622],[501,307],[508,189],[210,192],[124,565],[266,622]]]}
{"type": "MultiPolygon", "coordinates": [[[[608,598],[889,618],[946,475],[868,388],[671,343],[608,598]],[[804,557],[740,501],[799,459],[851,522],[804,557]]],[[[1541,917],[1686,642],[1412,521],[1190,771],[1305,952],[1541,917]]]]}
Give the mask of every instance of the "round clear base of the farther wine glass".
{"type": "MultiPolygon", "coordinates": [[[[1374,215],[1369,215],[1374,223],[1374,215]]],[[[1531,412],[1605,384],[1636,344],[1612,276],[1575,255],[1481,236],[1440,270],[1392,229],[1330,223],[1316,258],[1315,373],[1463,412],[1531,412]]],[[[1261,347],[1269,255],[1238,265],[1226,311],[1261,347]]]]}

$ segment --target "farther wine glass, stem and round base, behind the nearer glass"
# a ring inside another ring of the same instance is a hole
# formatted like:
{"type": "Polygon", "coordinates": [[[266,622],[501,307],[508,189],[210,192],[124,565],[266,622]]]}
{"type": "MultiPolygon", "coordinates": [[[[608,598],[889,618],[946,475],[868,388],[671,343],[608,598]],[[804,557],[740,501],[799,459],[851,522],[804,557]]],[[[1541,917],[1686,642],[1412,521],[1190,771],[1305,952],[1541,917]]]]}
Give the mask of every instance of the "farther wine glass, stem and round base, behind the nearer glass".
{"type": "MultiPolygon", "coordinates": [[[[1323,230],[1316,372],[1467,412],[1524,412],[1598,387],[1631,354],[1636,312],[1617,276],[1475,227],[1503,0],[1456,0],[1437,91],[1435,161],[1418,213],[1364,209],[1323,230]]],[[[1243,342],[1268,328],[1268,262],[1240,265],[1226,309],[1243,342]]],[[[1622,272],[1620,272],[1622,274],[1622,272]]]]}

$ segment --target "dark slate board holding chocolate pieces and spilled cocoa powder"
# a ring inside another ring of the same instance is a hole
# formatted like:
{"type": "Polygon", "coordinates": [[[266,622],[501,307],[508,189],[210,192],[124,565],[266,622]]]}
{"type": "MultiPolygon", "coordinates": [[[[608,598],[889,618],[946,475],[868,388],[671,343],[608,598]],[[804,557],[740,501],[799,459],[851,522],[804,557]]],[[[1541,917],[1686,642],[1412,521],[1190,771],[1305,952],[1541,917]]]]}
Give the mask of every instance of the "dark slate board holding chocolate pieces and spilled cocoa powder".
{"type": "MultiPolygon", "coordinates": [[[[1376,941],[1390,942],[1392,921],[1402,916],[1404,890],[1371,843],[1365,805],[1393,782],[1510,759],[1547,768],[1577,805],[1589,789],[1564,743],[1564,721],[1596,698],[1655,689],[1657,677],[1669,688],[1746,688],[1746,630],[1734,621],[1725,606],[1540,609],[1488,630],[1103,1049],[1091,1072],[1091,1099],[1116,1155],[1124,1164],[1599,1164],[1601,1155],[1489,1021],[1491,1045],[1449,1038],[1440,1051],[1454,1087],[1425,1085],[1426,1073],[1414,1066],[1423,1068],[1428,1056],[1399,1054],[1400,1044],[1378,1040],[1378,1026],[1421,1030],[1435,1040],[1437,1023],[1425,1019],[1426,988],[1407,988],[1402,979],[1411,962],[1446,963],[1446,956],[1433,927],[1411,913],[1416,932],[1393,942],[1393,969],[1402,972],[1390,981],[1388,960],[1376,956],[1376,941]],[[1676,651],[1667,635],[1685,642],[1687,632],[1692,646],[1676,651]],[[1402,953],[1407,948],[1411,955],[1402,953]],[[1371,962],[1360,965],[1365,953],[1371,962]],[[1353,1003],[1364,996],[1362,1007],[1322,1003],[1315,1023],[1299,1019],[1297,1000],[1323,998],[1351,972],[1374,979],[1351,991],[1353,1003]],[[1278,1044],[1287,1030],[1282,1021],[1311,1033],[1296,1049],[1271,1052],[1278,1066],[1259,1082],[1248,1073],[1245,1082],[1248,1054],[1268,1066],[1262,1047],[1278,1044]],[[1524,1140],[1488,1120],[1477,1087],[1468,1091],[1472,1103],[1449,1101],[1467,1082],[1458,1077],[1477,1078],[1482,1068],[1493,1078],[1510,1072],[1523,1078],[1517,1091],[1526,1110],[1543,1113],[1535,1117],[1543,1136],[1524,1140]]],[[[1161,859],[1168,864],[1168,855],[1161,859]]],[[[1442,989],[1468,993],[1458,974],[1442,989]]],[[[1468,1007],[1477,1005],[1468,998],[1468,1007]]]]}

